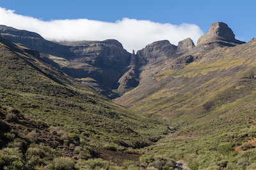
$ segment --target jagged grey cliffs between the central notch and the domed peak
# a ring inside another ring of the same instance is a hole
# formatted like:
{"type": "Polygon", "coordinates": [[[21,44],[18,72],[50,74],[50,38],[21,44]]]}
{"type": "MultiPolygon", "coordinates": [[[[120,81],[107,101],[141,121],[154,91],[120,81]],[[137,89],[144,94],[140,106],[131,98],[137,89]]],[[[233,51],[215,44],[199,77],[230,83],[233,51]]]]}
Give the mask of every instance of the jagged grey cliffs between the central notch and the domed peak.
{"type": "MultiPolygon", "coordinates": [[[[139,50],[136,55],[133,52],[129,71],[118,80],[118,90],[127,92],[131,88],[138,86],[143,78],[148,77],[148,74],[156,74],[158,72],[154,69],[157,68],[155,63],[162,63],[163,59],[175,60],[194,47],[192,39],[187,38],[180,41],[178,46],[172,45],[168,40],[163,40],[147,45],[139,50]],[[152,69],[148,70],[149,67],[152,69]]],[[[188,63],[190,60],[185,59],[184,62],[188,63]]]]}

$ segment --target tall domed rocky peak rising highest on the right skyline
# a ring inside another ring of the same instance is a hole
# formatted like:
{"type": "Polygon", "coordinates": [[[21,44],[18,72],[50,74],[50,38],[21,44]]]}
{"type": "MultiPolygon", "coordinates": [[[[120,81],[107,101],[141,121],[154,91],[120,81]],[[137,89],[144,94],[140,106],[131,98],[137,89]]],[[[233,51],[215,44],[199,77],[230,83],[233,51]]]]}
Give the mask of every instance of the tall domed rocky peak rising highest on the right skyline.
{"type": "Polygon", "coordinates": [[[223,22],[215,22],[214,24],[211,24],[209,31],[198,39],[197,45],[205,43],[209,44],[216,41],[227,41],[236,44],[243,43],[235,39],[233,31],[223,22]]]}

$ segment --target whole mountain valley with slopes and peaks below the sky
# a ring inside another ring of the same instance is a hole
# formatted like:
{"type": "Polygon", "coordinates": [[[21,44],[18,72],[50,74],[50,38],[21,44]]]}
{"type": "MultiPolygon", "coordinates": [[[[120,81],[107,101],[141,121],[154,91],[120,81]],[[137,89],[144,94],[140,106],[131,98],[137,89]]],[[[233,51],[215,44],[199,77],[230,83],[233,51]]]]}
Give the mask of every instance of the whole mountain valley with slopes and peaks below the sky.
{"type": "Polygon", "coordinates": [[[216,22],[196,45],[129,53],[115,39],[0,35],[3,168],[256,168],[255,38],[216,22]]]}

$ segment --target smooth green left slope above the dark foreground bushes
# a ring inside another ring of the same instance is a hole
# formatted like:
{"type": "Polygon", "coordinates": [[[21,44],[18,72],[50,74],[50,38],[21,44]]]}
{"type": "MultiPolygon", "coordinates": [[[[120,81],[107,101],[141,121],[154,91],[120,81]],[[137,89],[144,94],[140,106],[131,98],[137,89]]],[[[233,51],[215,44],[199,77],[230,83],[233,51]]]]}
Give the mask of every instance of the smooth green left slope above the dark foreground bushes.
{"type": "Polygon", "coordinates": [[[87,143],[140,148],[166,132],[166,126],[136,115],[76,83],[40,58],[1,39],[0,102],[50,125],[88,136],[87,143]]]}

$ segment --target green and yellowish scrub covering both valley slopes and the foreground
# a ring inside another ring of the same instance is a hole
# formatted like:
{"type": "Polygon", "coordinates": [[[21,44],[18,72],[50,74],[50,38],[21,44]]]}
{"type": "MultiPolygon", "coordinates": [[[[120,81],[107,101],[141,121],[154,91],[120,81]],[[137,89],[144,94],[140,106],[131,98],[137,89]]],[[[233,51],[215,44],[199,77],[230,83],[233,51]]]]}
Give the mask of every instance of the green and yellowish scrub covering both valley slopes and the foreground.
{"type": "Polygon", "coordinates": [[[147,118],[1,42],[0,169],[175,169],[178,160],[191,169],[256,167],[255,43],[244,53],[198,52],[201,60],[125,94],[139,89],[127,101],[147,118]],[[141,157],[117,164],[99,148],[141,157]]]}

